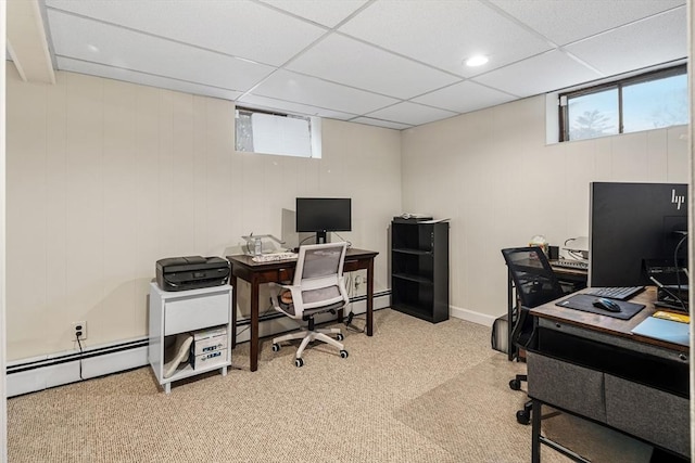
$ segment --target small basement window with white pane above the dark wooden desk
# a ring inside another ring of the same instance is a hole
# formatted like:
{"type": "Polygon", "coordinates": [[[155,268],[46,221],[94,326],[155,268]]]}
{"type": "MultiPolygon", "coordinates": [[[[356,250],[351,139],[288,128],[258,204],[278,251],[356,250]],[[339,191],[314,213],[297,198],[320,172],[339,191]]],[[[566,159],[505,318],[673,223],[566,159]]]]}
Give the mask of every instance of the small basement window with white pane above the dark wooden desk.
{"type": "Polygon", "coordinates": [[[235,145],[247,153],[321,157],[320,118],[237,107],[235,145]]]}

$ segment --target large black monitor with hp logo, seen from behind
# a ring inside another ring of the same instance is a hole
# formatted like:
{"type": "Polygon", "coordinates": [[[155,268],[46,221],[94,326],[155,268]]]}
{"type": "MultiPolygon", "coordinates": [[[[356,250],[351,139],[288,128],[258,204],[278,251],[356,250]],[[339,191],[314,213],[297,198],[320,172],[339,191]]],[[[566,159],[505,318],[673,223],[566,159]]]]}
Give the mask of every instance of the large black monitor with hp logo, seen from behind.
{"type": "Polygon", "coordinates": [[[591,183],[589,284],[686,283],[687,185],[591,183]]]}

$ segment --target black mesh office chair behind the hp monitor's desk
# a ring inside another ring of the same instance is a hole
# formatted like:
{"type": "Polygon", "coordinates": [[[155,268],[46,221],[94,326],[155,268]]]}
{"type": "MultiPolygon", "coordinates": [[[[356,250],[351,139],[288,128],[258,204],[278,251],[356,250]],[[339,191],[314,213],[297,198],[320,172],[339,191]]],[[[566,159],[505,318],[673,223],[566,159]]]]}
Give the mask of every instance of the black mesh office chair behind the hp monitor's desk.
{"type": "MultiPolygon", "coordinates": [[[[540,247],[507,248],[502,249],[502,255],[507,263],[509,276],[514,281],[520,303],[517,309],[517,320],[511,331],[511,342],[519,349],[523,349],[533,335],[533,318],[529,314],[529,310],[561,297],[565,292],[553,272],[551,262],[540,247]]],[[[513,390],[519,390],[522,381],[528,381],[528,375],[518,374],[509,382],[509,387],[513,390]]],[[[520,424],[531,423],[530,400],[523,404],[522,410],[517,411],[517,422],[520,424]]]]}

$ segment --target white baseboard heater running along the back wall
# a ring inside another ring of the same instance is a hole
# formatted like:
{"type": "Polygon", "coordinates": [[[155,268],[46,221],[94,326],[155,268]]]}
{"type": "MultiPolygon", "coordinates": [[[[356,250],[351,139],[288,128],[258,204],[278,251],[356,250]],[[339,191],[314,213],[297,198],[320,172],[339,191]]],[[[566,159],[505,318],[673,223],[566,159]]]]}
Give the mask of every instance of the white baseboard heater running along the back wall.
{"type": "MultiPolygon", "coordinates": [[[[351,309],[356,316],[367,311],[366,299],[366,296],[356,296],[351,299],[351,309]]],[[[390,291],[375,294],[375,310],[389,307],[390,299],[390,291]]],[[[319,322],[321,321],[330,321],[330,316],[326,320],[319,320],[319,322]]],[[[238,343],[249,340],[248,325],[249,322],[245,320],[237,323],[238,343]]],[[[296,322],[280,316],[277,319],[262,321],[258,325],[258,336],[273,336],[295,327],[296,322]]],[[[148,344],[149,339],[143,337],[87,348],[83,352],[71,350],[8,362],[7,397],[36,393],[148,365],[148,344]]]]}

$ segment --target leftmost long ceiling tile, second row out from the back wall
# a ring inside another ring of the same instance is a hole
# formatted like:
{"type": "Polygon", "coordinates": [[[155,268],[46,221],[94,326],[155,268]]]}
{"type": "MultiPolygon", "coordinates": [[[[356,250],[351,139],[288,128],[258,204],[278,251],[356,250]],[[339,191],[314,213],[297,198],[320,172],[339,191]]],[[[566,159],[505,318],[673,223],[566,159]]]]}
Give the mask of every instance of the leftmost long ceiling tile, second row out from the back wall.
{"type": "Polygon", "coordinates": [[[241,91],[274,69],[56,11],[49,18],[56,56],[241,91]]]}

